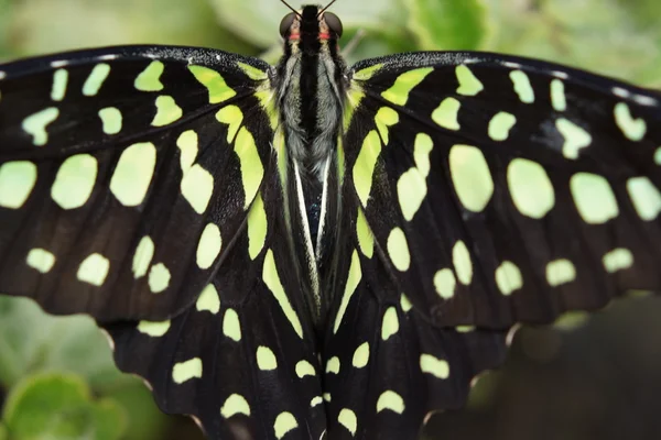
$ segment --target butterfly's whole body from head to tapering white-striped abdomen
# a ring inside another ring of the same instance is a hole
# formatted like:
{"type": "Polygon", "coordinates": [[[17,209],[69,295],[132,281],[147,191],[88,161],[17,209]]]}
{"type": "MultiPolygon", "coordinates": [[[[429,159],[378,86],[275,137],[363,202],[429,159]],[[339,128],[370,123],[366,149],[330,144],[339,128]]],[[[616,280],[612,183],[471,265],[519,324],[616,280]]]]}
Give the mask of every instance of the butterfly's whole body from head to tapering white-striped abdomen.
{"type": "MultiPolygon", "coordinates": [[[[296,235],[291,242],[293,257],[300,260],[308,279],[307,292],[314,298],[315,321],[325,321],[332,293],[323,298],[319,287],[319,262],[332,252],[335,224],[342,211],[338,174],[344,167],[337,158],[343,133],[346,72],[338,53],[338,30],[332,29],[321,7],[307,6],[300,13],[288,14],[281,24],[284,54],[272,79],[285,145],[278,154],[286,204],[286,222],[296,235]],[[333,229],[333,228],[332,228],[333,229]],[[301,248],[304,244],[304,249],[301,248]],[[324,304],[322,304],[322,301],[324,304]]],[[[339,29],[342,32],[342,29],[339,29]]],[[[277,148],[278,151],[278,148],[277,148]]],[[[333,264],[333,263],[330,263],[333,264]]],[[[332,271],[332,270],[330,270],[332,271]]]]}

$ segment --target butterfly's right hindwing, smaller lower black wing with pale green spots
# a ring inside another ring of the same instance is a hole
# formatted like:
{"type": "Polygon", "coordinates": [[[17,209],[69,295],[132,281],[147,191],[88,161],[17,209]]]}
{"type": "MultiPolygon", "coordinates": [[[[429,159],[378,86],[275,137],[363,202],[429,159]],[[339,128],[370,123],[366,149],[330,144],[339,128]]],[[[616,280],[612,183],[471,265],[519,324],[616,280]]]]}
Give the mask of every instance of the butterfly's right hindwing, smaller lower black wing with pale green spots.
{"type": "Polygon", "coordinates": [[[409,299],[415,292],[392,279],[351,186],[343,200],[337,273],[346,275],[329,310],[322,365],[328,432],[416,438],[431,413],[460,407],[474,377],[503,362],[507,330],[431,324],[409,299]]]}

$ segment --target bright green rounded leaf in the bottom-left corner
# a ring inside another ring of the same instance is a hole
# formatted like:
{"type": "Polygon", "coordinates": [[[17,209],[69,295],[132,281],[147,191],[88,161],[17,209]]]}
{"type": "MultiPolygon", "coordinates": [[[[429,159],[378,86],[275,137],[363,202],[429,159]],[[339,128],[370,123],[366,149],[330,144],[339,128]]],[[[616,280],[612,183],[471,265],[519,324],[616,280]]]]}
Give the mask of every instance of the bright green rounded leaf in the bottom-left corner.
{"type": "Polygon", "coordinates": [[[94,402],[73,374],[25,377],[10,393],[3,419],[10,437],[21,440],[117,440],[126,427],[122,408],[94,402]]]}

